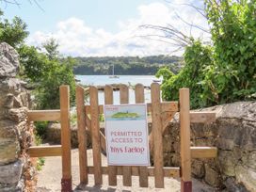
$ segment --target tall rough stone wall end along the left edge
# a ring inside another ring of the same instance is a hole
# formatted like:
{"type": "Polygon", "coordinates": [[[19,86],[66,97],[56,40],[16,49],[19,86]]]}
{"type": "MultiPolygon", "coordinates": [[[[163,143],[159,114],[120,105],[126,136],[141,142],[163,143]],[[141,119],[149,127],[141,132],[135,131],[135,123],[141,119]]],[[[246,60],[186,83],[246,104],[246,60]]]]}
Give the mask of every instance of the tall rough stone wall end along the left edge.
{"type": "Polygon", "coordinates": [[[18,71],[17,52],[0,43],[0,191],[8,192],[26,191],[35,172],[25,153],[33,136],[26,122],[29,94],[15,78],[18,71]]]}

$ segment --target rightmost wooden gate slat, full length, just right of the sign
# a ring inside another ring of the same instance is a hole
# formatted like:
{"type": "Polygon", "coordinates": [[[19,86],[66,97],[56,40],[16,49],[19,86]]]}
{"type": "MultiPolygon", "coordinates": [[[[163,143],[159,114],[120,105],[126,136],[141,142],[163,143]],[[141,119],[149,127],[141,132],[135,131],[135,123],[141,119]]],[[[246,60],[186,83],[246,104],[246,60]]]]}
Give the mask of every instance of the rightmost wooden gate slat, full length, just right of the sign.
{"type": "Polygon", "coordinates": [[[164,162],[162,141],[162,120],[160,104],[160,86],[153,83],[152,89],[152,138],[153,138],[153,162],[155,187],[164,187],[164,162]]]}

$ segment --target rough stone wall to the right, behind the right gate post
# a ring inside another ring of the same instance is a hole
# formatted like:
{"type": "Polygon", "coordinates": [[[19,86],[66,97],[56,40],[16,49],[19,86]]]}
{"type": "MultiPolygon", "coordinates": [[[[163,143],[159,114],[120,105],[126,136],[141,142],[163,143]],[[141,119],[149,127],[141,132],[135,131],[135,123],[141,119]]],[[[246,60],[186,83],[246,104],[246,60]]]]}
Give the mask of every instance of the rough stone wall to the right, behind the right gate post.
{"type": "MultiPolygon", "coordinates": [[[[219,105],[216,122],[191,125],[191,145],[216,146],[215,159],[193,159],[194,177],[228,191],[256,191],[256,102],[219,105]]],[[[178,117],[164,135],[165,166],[180,166],[178,117]]]]}

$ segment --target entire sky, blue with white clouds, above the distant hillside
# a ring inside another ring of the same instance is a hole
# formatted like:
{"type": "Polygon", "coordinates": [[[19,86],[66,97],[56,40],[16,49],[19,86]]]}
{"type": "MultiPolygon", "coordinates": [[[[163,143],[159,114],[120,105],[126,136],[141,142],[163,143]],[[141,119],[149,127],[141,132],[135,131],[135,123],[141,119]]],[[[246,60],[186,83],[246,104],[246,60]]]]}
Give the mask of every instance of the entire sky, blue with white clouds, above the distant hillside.
{"type": "Polygon", "coordinates": [[[191,3],[201,7],[200,0],[20,0],[19,7],[1,3],[8,19],[21,17],[30,32],[31,45],[55,38],[59,51],[66,56],[151,56],[181,55],[170,41],[149,35],[159,31],[142,28],[143,24],[172,24],[186,35],[204,38],[206,34],[184,24],[184,21],[206,27],[205,19],[191,3]],[[32,2],[32,3],[30,3],[32,2]],[[177,17],[179,15],[179,17],[177,17]],[[145,36],[147,38],[145,38],[145,36]],[[152,39],[152,38],[151,38],[152,39]]]}

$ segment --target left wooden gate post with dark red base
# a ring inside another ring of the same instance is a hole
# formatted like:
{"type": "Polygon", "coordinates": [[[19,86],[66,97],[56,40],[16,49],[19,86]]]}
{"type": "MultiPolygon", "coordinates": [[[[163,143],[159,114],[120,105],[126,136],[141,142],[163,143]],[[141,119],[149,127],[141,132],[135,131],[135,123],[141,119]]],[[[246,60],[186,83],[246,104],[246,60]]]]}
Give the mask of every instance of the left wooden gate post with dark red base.
{"type": "Polygon", "coordinates": [[[60,124],[61,124],[61,152],[62,179],[61,191],[72,191],[72,159],[71,159],[71,125],[70,125],[70,87],[60,86],[60,124]]]}

